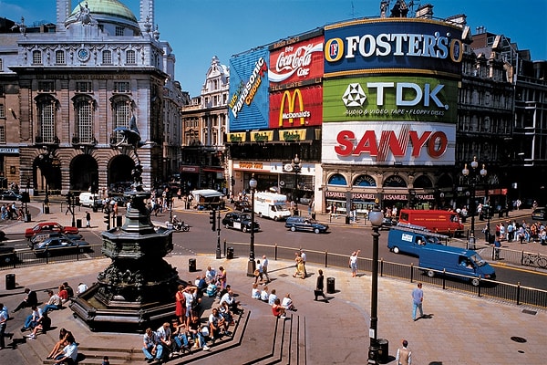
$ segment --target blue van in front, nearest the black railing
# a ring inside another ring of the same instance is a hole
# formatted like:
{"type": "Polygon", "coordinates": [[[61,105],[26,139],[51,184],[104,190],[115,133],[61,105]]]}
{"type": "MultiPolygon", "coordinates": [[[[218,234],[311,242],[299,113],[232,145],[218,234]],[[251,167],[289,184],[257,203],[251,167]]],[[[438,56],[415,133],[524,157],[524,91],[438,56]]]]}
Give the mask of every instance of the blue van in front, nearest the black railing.
{"type": "Polygon", "coordinates": [[[452,246],[427,246],[419,251],[418,266],[428,274],[435,276],[435,271],[446,270],[446,273],[459,276],[470,276],[473,286],[480,283],[479,278],[494,280],[496,272],[489,263],[484,261],[479,254],[473,250],[452,246]]]}

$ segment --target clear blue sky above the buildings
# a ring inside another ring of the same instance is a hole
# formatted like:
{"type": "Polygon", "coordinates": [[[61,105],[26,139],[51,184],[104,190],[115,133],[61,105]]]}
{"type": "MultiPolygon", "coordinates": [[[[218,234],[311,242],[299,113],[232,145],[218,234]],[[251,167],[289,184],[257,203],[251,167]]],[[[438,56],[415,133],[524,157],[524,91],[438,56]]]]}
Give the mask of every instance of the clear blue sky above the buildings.
{"type": "MultiPolygon", "coordinates": [[[[139,18],[139,0],[120,2],[139,18]]],[[[439,18],[465,14],[473,34],[477,26],[485,26],[488,32],[510,37],[519,49],[530,49],[532,59],[547,59],[547,0],[414,2],[434,5],[434,16],[439,18]]],[[[213,56],[229,65],[232,55],[253,47],[325,24],[379,16],[379,4],[379,0],[156,0],[155,16],[160,38],[176,55],[175,76],[182,89],[195,97],[213,56]]],[[[0,0],[0,16],[15,21],[25,16],[27,25],[40,20],[55,23],[56,0],[0,0]]]]}

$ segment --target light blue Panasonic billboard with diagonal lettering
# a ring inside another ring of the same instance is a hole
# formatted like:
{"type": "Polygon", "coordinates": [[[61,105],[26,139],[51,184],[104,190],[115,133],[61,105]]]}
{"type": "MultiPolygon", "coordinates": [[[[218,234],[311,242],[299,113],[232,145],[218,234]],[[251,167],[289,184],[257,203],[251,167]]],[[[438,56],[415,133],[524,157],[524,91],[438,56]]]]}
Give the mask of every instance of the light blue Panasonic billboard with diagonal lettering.
{"type": "Polygon", "coordinates": [[[268,128],[267,49],[230,59],[230,130],[268,128]]]}

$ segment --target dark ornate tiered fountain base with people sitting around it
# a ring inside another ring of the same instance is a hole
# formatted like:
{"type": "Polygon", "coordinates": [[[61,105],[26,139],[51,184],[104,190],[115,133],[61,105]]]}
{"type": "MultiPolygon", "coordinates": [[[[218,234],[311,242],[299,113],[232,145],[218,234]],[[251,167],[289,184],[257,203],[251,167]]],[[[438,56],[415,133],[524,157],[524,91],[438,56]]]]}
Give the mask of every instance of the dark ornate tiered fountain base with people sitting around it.
{"type": "Polygon", "coordinates": [[[127,194],[131,205],[121,228],[103,232],[102,252],[112,263],[98,282],[70,305],[91,330],[143,331],[174,318],[175,293],[185,283],[163,257],[172,231],[155,227],[144,200],[150,193],[127,194]]]}

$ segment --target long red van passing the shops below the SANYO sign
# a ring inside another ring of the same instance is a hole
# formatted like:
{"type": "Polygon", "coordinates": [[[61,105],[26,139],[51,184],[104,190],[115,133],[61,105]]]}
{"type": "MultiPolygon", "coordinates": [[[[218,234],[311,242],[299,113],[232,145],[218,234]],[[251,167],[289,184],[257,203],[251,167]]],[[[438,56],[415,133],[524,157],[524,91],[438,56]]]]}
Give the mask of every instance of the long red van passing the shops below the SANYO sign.
{"type": "Polygon", "coordinates": [[[439,210],[401,209],[400,224],[415,224],[431,232],[445,235],[463,235],[463,224],[456,212],[439,210]]]}

